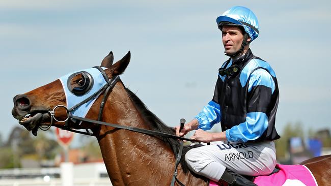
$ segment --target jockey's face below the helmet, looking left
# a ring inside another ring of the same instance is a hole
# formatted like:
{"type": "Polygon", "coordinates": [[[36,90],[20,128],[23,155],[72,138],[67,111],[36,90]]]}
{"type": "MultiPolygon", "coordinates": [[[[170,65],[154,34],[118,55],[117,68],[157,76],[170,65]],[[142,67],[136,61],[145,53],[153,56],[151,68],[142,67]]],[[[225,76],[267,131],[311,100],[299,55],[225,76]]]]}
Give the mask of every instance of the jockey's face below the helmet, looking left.
{"type": "Polygon", "coordinates": [[[239,26],[223,26],[222,42],[228,55],[235,54],[241,47],[243,33],[239,26]]]}

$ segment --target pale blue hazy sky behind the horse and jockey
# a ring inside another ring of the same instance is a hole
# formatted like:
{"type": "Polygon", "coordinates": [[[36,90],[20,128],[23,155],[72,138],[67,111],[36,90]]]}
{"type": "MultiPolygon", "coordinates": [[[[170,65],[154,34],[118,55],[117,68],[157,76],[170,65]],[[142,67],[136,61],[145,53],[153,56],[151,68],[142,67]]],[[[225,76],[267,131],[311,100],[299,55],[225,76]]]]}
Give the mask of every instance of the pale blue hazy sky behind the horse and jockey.
{"type": "Polygon", "coordinates": [[[278,78],[278,132],[288,122],[330,129],[330,1],[2,0],[3,140],[19,126],[11,115],[15,95],[100,65],[109,51],[115,61],[131,51],[121,79],[168,126],[190,120],[212,99],[228,59],[216,17],[236,5],[259,20],[250,47],[278,78]]]}

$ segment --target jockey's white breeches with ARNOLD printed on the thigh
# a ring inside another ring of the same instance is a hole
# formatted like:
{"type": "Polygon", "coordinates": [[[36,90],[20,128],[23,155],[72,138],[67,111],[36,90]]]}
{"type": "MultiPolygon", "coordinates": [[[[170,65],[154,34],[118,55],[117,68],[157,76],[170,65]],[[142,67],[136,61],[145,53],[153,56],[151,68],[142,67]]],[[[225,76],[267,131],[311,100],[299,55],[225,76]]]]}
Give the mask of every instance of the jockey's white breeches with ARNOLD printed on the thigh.
{"type": "Polygon", "coordinates": [[[185,161],[192,171],[216,182],[226,168],[238,174],[258,176],[270,174],[276,164],[273,142],[202,146],[190,149],[185,161]]]}

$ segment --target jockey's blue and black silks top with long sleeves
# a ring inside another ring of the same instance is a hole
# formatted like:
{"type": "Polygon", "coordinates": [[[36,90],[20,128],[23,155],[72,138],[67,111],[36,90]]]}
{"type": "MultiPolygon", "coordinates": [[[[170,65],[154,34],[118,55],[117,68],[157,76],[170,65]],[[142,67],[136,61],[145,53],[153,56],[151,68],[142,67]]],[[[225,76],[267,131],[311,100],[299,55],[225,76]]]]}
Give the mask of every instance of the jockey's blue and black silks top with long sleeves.
{"type": "Polygon", "coordinates": [[[239,73],[218,75],[213,99],[196,116],[199,128],[209,130],[220,122],[230,142],[280,138],[274,127],[279,100],[274,71],[251,50],[236,61],[229,59],[222,68],[232,64],[239,65],[239,73]]]}

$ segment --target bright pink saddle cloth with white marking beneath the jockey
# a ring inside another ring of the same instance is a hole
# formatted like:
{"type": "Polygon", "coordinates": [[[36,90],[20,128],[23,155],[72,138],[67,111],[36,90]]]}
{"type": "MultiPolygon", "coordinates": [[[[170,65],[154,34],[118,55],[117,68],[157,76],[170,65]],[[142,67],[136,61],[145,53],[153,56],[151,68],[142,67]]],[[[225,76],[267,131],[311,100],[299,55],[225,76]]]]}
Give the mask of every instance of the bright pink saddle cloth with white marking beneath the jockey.
{"type": "MultiPolygon", "coordinates": [[[[272,185],[272,186],[317,186],[315,177],[310,170],[304,165],[280,165],[277,164],[276,168],[279,169],[277,173],[269,176],[257,176],[254,183],[257,185],[272,185]]],[[[218,184],[212,180],[210,186],[217,186],[218,184]]]]}

